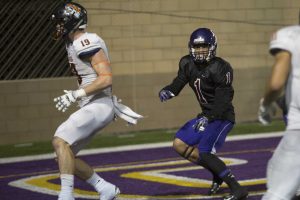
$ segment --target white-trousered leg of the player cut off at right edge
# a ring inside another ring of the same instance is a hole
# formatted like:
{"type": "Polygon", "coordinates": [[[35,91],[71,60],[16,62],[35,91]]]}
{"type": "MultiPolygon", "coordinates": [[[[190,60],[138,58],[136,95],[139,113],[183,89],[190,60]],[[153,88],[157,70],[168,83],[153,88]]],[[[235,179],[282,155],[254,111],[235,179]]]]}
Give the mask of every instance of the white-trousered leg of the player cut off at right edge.
{"type": "Polygon", "coordinates": [[[299,143],[300,130],[285,131],[268,163],[264,200],[292,199],[296,194],[300,185],[299,143]]]}

